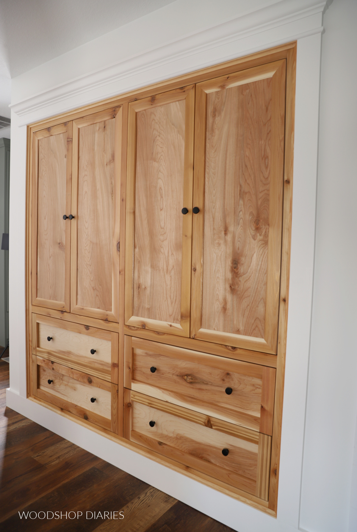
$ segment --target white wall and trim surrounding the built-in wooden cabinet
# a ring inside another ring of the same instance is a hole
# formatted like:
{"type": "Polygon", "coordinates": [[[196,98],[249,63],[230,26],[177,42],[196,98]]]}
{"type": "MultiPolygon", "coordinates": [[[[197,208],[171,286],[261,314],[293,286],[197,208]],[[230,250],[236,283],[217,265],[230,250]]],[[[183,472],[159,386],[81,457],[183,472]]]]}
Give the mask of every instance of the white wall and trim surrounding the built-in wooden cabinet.
{"type": "Polygon", "coordinates": [[[8,404],[239,532],[348,530],[357,414],[352,304],[356,295],[353,207],[357,198],[353,174],[357,145],[353,129],[355,67],[352,79],[355,7],[353,0],[335,0],[325,15],[314,291],[323,2],[177,0],[155,15],[147,15],[12,81],[8,404]],[[148,27],[153,28],[153,18],[156,29],[147,32],[148,27]],[[292,263],[278,517],[273,519],[101,436],[89,438],[87,429],[24,398],[24,124],[294,39],[297,78],[292,263]],[[123,41],[126,46],[122,46],[123,41]]]}

